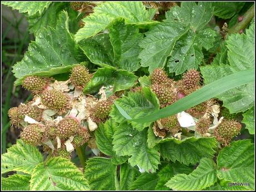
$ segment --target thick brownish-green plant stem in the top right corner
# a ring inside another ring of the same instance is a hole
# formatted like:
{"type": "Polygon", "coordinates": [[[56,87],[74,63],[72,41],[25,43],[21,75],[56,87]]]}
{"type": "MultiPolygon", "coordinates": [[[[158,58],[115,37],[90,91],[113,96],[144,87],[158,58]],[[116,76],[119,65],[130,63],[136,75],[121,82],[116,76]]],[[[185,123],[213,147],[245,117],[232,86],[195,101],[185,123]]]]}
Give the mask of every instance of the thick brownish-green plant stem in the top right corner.
{"type": "Polygon", "coordinates": [[[247,12],[244,13],[243,15],[243,20],[241,22],[237,22],[232,28],[229,29],[228,33],[237,33],[240,32],[241,30],[244,30],[250,21],[252,21],[254,17],[254,4],[252,7],[248,9],[247,12]]]}

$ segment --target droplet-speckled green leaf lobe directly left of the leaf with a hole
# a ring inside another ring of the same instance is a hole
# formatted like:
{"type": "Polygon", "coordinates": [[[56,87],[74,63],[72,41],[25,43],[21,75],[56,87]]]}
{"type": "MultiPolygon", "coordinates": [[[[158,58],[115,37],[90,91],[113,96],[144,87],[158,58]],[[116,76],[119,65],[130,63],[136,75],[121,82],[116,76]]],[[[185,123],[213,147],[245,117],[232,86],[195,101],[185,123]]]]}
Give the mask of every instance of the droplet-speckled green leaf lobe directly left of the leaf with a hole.
{"type": "Polygon", "coordinates": [[[139,55],[141,66],[149,67],[150,72],[155,68],[163,68],[176,41],[186,32],[188,28],[179,23],[156,24],[154,28],[145,33],[146,37],[140,42],[140,46],[144,49],[139,55]]]}

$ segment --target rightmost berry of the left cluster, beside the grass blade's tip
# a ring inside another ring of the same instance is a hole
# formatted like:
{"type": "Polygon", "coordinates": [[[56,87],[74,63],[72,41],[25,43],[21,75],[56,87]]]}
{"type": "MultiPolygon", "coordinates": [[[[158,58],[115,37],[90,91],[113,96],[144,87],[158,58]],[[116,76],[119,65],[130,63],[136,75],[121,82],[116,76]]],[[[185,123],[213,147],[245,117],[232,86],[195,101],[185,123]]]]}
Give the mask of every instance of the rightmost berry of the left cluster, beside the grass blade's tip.
{"type": "Polygon", "coordinates": [[[92,120],[97,124],[100,122],[105,122],[109,117],[112,104],[112,99],[97,102],[94,109],[92,110],[92,120]]]}

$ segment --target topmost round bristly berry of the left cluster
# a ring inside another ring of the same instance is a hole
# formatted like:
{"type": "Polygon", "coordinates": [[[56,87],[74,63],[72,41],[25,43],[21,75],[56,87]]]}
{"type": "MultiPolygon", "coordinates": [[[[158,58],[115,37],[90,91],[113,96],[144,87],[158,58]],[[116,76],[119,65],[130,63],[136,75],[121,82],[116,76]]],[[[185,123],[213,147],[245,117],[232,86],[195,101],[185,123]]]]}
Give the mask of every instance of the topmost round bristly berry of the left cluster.
{"type": "Polygon", "coordinates": [[[72,68],[70,80],[73,85],[78,89],[83,89],[90,81],[91,75],[88,69],[83,65],[76,65],[72,68]]]}

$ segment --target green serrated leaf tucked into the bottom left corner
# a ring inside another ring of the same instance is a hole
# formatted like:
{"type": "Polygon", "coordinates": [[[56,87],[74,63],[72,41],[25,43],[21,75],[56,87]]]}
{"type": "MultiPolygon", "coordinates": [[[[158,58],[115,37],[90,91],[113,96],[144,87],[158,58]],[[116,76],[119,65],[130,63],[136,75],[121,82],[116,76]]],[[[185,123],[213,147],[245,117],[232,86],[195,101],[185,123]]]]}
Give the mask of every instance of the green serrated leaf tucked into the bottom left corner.
{"type": "Polygon", "coordinates": [[[27,191],[29,190],[30,175],[10,175],[8,178],[2,178],[2,190],[4,191],[27,191]]]}

